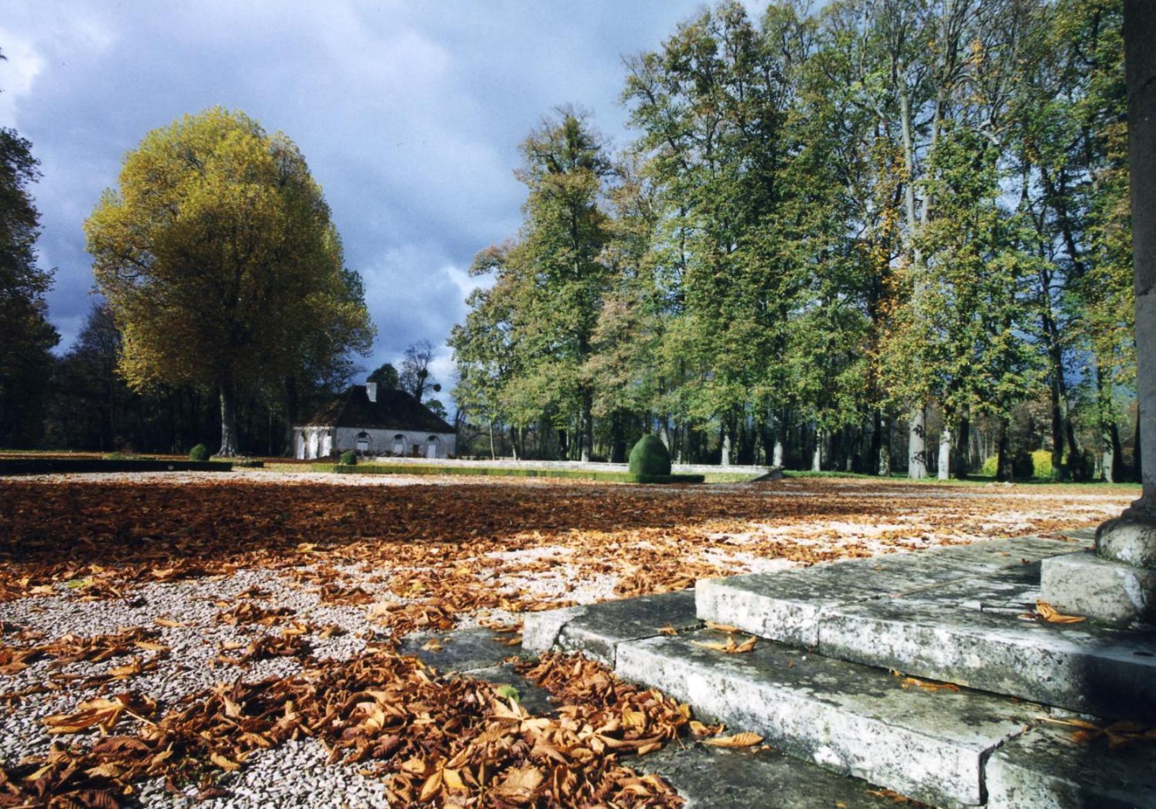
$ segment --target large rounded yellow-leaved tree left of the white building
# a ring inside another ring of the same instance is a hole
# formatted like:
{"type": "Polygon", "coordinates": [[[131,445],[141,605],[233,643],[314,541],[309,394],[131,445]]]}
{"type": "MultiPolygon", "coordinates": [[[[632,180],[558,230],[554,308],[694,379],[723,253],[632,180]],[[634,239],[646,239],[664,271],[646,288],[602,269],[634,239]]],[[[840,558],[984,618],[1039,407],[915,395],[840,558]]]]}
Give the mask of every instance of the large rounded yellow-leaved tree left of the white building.
{"type": "Polygon", "coordinates": [[[84,231],[124,335],[120,373],[136,389],[216,392],[221,455],[237,454],[238,392],[372,342],[361,277],[304,157],[243,112],[148,133],[84,231]]]}

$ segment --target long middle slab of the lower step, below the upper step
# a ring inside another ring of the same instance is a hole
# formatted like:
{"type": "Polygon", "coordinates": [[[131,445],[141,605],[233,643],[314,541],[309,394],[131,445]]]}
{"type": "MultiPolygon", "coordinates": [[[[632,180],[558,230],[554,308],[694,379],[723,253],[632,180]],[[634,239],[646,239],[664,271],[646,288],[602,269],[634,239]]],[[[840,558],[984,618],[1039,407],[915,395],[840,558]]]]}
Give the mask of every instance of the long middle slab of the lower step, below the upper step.
{"type": "Polygon", "coordinates": [[[697,645],[725,638],[698,630],[621,643],[616,671],[792,756],[936,806],[983,803],[988,756],[1045,712],[783,644],[743,654],[697,645]]]}

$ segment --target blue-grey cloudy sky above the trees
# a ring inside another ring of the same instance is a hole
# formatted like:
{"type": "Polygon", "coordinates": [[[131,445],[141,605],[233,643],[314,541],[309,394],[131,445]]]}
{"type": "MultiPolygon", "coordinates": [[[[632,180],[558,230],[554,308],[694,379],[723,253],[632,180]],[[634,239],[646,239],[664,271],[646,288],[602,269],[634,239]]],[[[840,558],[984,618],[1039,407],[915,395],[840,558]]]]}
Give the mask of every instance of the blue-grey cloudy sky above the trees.
{"type": "MultiPolygon", "coordinates": [[[[749,7],[761,6],[751,2],[749,7]]],[[[0,126],[32,143],[49,316],[66,350],[92,305],[82,223],[121,156],[213,105],[302,149],[378,328],[366,370],[445,340],[480,283],[475,253],[513,236],[518,143],[573,104],[616,146],[624,55],[655,50],[691,0],[6,0],[0,126]]]]}

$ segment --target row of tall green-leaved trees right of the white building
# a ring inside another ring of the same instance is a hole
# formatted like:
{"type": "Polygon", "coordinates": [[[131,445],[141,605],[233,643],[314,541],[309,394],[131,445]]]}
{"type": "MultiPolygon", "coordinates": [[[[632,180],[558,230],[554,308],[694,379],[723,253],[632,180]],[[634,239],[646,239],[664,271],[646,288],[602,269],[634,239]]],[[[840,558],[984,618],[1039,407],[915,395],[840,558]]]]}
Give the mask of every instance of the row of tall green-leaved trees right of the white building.
{"type": "Polygon", "coordinates": [[[571,107],[523,143],[455,400],[524,453],[657,430],[683,460],[913,477],[988,441],[1010,474],[1043,404],[1058,474],[1119,474],[1121,42],[1118,0],[702,12],[627,61],[622,153],[571,107]]]}

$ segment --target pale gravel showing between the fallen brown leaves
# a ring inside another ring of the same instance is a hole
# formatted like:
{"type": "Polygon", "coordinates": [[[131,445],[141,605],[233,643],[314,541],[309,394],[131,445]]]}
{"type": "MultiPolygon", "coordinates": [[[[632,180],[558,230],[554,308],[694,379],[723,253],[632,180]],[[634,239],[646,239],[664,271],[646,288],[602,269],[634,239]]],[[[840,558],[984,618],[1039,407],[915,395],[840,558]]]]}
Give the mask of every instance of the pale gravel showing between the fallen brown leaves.
{"type": "MultiPolygon", "coordinates": [[[[9,766],[25,756],[45,754],[53,742],[65,740],[87,743],[97,739],[99,732],[96,729],[64,737],[53,736],[44,725],[46,717],[71,713],[84,700],[132,690],[156,700],[163,711],[190,695],[232,683],[238,678],[257,682],[265,677],[298,674],[303,670],[303,656],[275,656],[243,665],[220,660],[221,656],[240,654],[238,650],[264,636],[280,638],[294,624],[307,624],[307,631],[299,637],[311,645],[314,659],[348,660],[363,652],[368,643],[388,637],[388,630],[373,619],[376,604],[413,604],[422,601],[420,595],[403,598],[391,591],[391,579],[399,576],[420,578],[421,574],[428,574],[437,581],[437,577],[454,572],[454,566],[468,565],[469,574],[476,577],[480,585],[494,587],[497,592],[521,594],[519,598],[543,602],[569,600],[595,603],[618,598],[615,595],[615,587],[630,567],[629,558],[647,558],[636,552],[644,548],[667,554],[668,547],[677,547],[681,549],[679,552],[687,554],[687,562],[717,565],[721,570],[776,570],[799,564],[799,558],[806,558],[798,552],[792,557],[794,561],[785,558],[785,551],[791,549],[835,555],[846,549],[865,555],[929,547],[942,541],[942,536],[925,527],[934,525],[927,524],[925,518],[936,509],[948,507],[950,503],[958,503],[961,513],[965,512],[968,518],[958,525],[942,521],[941,529],[951,534],[951,541],[971,541],[1033,532],[1042,521],[1055,522],[1058,518],[1062,518],[1072,527],[1095,524],[1118,512],[1129,499],[1126,495],[1098,492],[1057,496],[1043,488],[1028,491],[1018,487],[1015,491],[1002,487],[944,490],[911,485],[867,485],[847,481],[784,481],[773,487],[720,484],[612,489],[550,478],[406,477],[269,470],[44,475],[21,477],[20,481],[45,487],[60,483],[142,487],[179,484],[178,489],[183,485],[197,485],[214,490],[217,487],[236,490],[258,484],[266,492],[271,485],[276,485],[284,488],[286,498],[292,497],[295,487],[305,484],[332,484],[334,489],[324,487],[326,492],[333,492],[338,487],[347,487],[349,491],[366,487],[413,487],[414,491],[427,492],[430,487],[468,487],[469,492],[484,493],[477,487],[491,487],[496,493],[528,490],[526,495],[539,503],[556,500],[560,504],[571,504],[568,507],[573,507],[572,503],[576,500],[585,503],[583,498],[599,498],[602,491],[615,491],[629,492],[633,503],[647,503],[649,507],[657,510],[665,510],[662,504],[667,502],[674,509],[681,500],[694,498],[719,498],[725,505],[727,498],[740,493],[746,498],[743,503],[747,505],[743,507],[755,504],[755,515],[758,519],[746,512],[731,513],[722,510],[722,515],[714,522],[703,521],[692,526],[644,527],[623,532],[583,529],[596,535],[598,542],[603,543],[591,545],[583,544],[580,537],[576,539],[581,530],[563,521],[549,529],[543,527],[540,532],[519,528],[517,536],[523,541],[514,549],[483,552],[475,550],[473,556],[464,551],[458,558],[446,558],[442,567],[391,566],[387,562],[380,563],[381,566],[377,569],[369,564],[326,566],[324,558],[303,555],[301,564],[296,566],[242,566],[227,574],[176,581],[139,581],[120,599],[90,600],[83,587],[69,589],[65,584],[57,584],[51,595],[0,601],[0,622],[3,622],[0,626],[7,632],[2,638],[3,645],[46,644],[68,634],[92,638],[142,628],[155,631],[153,640],[169,647],[168,651],[131,648],[127,654],[102,662],[59,665],[49,658],[32,662],[14,674],[0,674],[0,764],[9,766]],[[837,503],[857,503],[861,498],[872,502],[879,499],[887,500],[887,505],[875,512],[851,511],[851,515],[816,511],[795,520],[769,519],[775,503],[793,503],[795,505],[792,507],[799,507],[799,504],[830,502],[832,498],[837,503]],[[977,511],[979,504],[987,502],[998,505],[988,511],[977,511]],[[763,514],[758,514],[761,504],[768,504],[763,514]],[[540,541],[525,541],[527,532],[538,535],[540,541]],[[662,544],[667,535],[679,537],[683,544],[662,544]],[[600,552],[605,557],[592,559],[591,548],[602,549],[600,552]],[[592,562],[598,564],[592,566],[592,562]],[[321,567],[325,569],[324,573],[318,572],[321,567]],[[343,587],[364,589],[369,594],[368,601],[323,601],[321,580],[334,576],[343,587]],[[223,611],[247,603],[257,608],[286,609],[290,613],[276,616],[267,624],[234,625],[222,621],[223,611]],[[43,637],[28,641],[14,640],[10,625],[42,633],[43,637]],[[103,684],[86,683],[87,680],[106,676],[132,660],[139,661],[144,670],[125,680],[103,684]],[[22,693],[25,696],[18,696],[22,693]]],[[[2,485],[3,481],[0,480],[0,487],[2,485]]],[[[0,496],[2,495],[0,491],[0,496]]],[[[383,497],[385,496],[394,497],[393,493],[383,492],[383,497]]],[[[452,492],[446,492],[446,497],[452,497],[452,492]]],[[[190,539],[195,541],[195,537],[190,539]]],[[[468,544],[462,548],[468,548],[468,544]]],[[[491,607],[461,610],[454,618],[458,628],[468,628],[479,621],[516,623],[519,616],[491,607]]],[[[0,650],[3,645],[0,645],[0,650]]],[[[513,651],[516,650],[511,650],[513,651]]],[[[131,733],[135,721],[118,726],[117,733],[131,733]]],[[[228,796],[198,801],[197,787],[188,787],[184,795],[175,796],[165,789],[162,780],[156,780],[141,785],[135,800],[146,807],[197,804],[230,809],[387,806],[386,785],[383,780],[362,774],[356,766],[327,764],[327,758],[328,752],[320,742],[288,742],[252,755],[237,772],[220,775],[217,771],[218,782],[229,789],[228,796]]]]}

